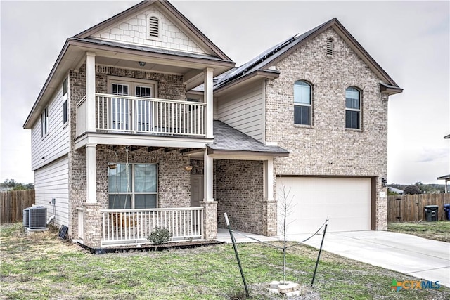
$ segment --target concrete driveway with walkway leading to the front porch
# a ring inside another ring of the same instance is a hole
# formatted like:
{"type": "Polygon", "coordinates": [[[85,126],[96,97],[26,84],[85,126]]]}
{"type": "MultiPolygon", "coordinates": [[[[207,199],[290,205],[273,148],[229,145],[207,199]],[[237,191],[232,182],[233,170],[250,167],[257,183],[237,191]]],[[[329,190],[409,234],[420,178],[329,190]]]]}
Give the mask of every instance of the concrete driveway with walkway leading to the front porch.
{"type": "MultiPolygon", "coordinates": [[[[277,237],[243,234],[265,242],[279,240],[277,237]]],[[[291,235],[289,240],[300,242],[308,236],[291,235]]],[[[236,242],[255,242],[238,233],[235,233],[235,239],[236,242]]],[[[217,240],[231,242],[229,231],[219,229],[217,240]]],[[[321,240],[322,235],[316,235],[305,244],[319,248],[321,240]]],[[[450,243],[448,242],[387,231],[352,231],[326,233],[323,250],[423,280],[439,281],[440,285],[450,287],[450,243]]]]}

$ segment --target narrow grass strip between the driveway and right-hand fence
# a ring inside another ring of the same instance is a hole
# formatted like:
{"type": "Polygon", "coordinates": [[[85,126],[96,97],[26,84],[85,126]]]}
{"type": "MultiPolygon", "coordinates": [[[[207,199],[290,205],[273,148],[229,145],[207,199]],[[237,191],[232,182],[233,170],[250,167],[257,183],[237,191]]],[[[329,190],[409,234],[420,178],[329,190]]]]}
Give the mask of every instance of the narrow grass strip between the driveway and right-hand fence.
{"type": "Polygon", "coordinates": [[[387,224],[387,230],[417,235],[430,240],[450,242],[450,221],[392,222],[387,224]]]}

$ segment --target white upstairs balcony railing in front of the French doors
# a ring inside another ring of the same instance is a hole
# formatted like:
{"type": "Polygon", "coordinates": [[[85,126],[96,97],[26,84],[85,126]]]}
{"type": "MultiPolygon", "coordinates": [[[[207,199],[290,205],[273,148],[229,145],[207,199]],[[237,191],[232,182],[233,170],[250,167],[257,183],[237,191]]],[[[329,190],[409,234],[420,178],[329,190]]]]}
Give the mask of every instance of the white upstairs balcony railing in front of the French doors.
{"type": "Polygon", "coordinates": [[[206,103],[96,93],[96,128],[105,131],[205,136],[206,103]]]}

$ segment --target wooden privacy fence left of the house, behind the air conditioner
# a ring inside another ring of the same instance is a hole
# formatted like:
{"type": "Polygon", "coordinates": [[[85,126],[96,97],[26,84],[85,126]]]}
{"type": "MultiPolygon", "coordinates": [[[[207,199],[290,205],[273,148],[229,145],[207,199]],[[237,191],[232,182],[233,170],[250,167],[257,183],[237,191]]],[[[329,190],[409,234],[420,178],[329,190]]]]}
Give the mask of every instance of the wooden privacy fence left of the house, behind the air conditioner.
{"type": "Polygon", "coordinates": [[[34,190],[0,192],[0,224],[22,222],[23,209],[34,204],[34,190]]]}

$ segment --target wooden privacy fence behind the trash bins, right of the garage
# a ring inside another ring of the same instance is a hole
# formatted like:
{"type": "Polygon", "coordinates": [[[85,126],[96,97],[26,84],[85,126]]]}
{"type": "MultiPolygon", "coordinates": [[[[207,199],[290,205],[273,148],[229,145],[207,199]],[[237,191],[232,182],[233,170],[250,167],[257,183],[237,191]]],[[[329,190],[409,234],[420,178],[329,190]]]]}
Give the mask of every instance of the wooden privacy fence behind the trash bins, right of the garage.
{"type": "Polygon", "coordinates": [[[446,220],[444,204],[450,204],[450,194],[402,195],[387,197],[387,221],[419,221],[425,219],[425,206],[437,205],[437,220],[446,220]]]}

